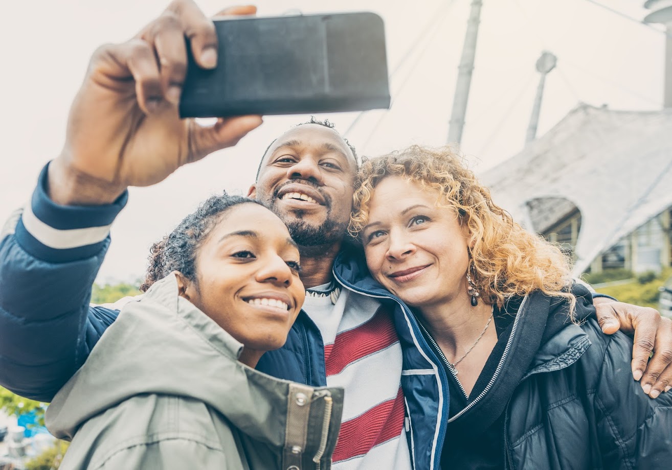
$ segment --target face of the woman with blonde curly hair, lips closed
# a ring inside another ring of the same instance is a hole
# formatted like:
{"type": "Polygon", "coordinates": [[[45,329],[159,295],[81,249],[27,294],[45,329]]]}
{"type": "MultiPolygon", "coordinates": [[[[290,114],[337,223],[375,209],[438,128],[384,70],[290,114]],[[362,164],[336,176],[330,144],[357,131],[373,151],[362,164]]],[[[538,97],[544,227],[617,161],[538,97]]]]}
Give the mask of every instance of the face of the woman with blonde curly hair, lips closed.
{"type": "Polygon", "coordinates": [[[439,194],[398,176],[374,189],[362,231],[373,277],[412,307],[422,309],[466,296],[468,233],[439,194]]]}

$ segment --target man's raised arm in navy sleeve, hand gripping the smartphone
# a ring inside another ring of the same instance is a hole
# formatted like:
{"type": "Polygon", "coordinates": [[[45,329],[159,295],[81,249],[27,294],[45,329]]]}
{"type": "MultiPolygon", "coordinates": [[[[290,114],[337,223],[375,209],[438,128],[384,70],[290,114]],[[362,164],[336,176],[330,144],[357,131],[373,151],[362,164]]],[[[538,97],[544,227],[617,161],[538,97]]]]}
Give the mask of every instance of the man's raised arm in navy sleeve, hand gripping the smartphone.
{"type": "Polygon", "coordinates": [[[0,383],[20,395],[50,400],[116,318],[88,302],[126,189],[163,181],[261,124],[259,116],[214,126],[179,119],[185,38],[200,66],[216,66],[214,25],[192,0],[173,1],[135,38],[93,54],[63,150],[40,175],[30,205],[5,226],[0,383]]]}

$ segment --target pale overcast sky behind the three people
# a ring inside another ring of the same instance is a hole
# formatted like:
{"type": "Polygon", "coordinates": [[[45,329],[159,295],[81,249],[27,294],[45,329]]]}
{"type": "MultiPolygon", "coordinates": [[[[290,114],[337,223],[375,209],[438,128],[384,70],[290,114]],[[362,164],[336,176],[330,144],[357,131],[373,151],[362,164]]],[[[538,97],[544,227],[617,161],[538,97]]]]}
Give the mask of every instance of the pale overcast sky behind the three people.
{"type": "MultiPolygon", "coordinates": [[[[208,14],[230,5],[213,0],[198,3],[208,14]]],[[[470,1],[413,3],[255,3],[259,15],[290,9],[304,13],[369,10],[384,18],[388,66],[393,72],[392,109],[366,113],[347,134],[360,154],[373,156],[413,143],[445,143],[470,1]]],[[[641,0],[601,3],[638,19],[647,13],[641,0]]],[[[40,169],[58,154],[69,103],[91,52],[99,44],[132,37],[165,5],[161,0],[26,0],[3,5],[1,220],[28,200],[40,169]]],[[[484,0],[463,152],[480,171],[522,148],[538,83],[534,64],[542,50],[556,54],[558,66],[546,81],[538,135],[579,101],[613,109],[660,109],[664,43],[660,29],[647,28],[587,0],[484,0]]],[[[329,118],[345,132],[357,116],[317,117],[329,118]]],[[[224,188],[246,193],[269,142],[309,118],[265,118],[265,124],[236,148],[180,169],[154,187],[131,189],[128,206],[112,228],[112,247],[98,280],[142,276],[153,241],[208,195],[224,188]]]]}

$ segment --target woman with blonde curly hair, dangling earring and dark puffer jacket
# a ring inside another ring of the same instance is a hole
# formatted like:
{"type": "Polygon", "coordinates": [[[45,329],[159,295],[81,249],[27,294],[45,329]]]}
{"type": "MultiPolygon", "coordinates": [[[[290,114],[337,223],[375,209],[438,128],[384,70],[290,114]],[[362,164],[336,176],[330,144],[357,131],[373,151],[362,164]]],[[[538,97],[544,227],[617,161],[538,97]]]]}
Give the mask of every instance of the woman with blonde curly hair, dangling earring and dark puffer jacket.
{"type": "Polygon", "coordinates": [[[355,190],[350,230],[370,291],[398,301],[404,361],[415,361],[407,399],[434,410],[409,416],[415,451],[428,447],[414,428],[435,426],[442,468],[669,465],[672,395],[644,394],[632,340],[601,333],[567,257],[513,222],[460,156],[412,146],[372,158],[355,190]]]}

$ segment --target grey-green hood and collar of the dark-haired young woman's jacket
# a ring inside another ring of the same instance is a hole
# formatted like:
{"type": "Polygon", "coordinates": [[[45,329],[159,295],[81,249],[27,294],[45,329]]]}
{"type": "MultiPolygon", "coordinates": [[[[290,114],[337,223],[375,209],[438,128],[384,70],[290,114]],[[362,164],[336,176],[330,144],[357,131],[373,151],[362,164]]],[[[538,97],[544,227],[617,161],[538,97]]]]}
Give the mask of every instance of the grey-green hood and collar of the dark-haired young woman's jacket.
{"type": "Polygon", "coordinates": [[[169,275],[122,309],[85,365],[54,397],[47,426],[54,436],[71,439],[93,416],[135,395],[157,393],[198,399],[251,438],[282,449],[288,442],[290,400],[299,393],[309,401],[333,399],[327,420],[323,406],[305,416],[308,429],[328,425],[333,449],[343,390],[316,389],[255,371],[237,361],[242,348],[180,297],[175,276],[169,275]]]}

